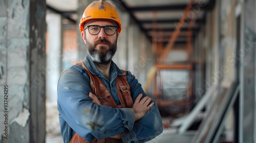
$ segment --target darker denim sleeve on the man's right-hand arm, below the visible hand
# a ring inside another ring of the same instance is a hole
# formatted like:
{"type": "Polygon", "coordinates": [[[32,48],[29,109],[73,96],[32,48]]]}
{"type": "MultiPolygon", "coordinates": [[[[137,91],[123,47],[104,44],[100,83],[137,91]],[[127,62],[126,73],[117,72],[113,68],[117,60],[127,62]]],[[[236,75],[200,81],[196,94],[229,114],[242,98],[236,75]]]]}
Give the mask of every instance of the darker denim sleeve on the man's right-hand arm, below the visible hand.
{"type": "MultiPolygon", "coordinates": [[[[140,93],[143,94],[144,98],[146,94],[135,76],[132,75],[130,71],[127,71],[126,77],[128,83],[131,85],[133,101],[135,101],[140,93]]],[[[146,142],[161,134],[162,131],[162,119],[157,104],[155,103],[150,111],[148,111],[139,121],[134,123],[133,130],[129,133],[121,133],[121,137],[124,142],[130,142],[130,140],[134,140],[134,138],[136,138],[136,142],[146,142]]]]}

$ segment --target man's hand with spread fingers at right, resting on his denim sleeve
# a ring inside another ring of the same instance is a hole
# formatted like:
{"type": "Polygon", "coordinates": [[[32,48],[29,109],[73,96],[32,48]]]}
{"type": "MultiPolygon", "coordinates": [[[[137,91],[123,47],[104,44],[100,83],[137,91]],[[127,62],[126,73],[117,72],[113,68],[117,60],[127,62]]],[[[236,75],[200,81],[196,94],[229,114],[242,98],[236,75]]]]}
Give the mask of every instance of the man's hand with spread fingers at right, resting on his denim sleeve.
{"type": "Polygon", "coordinates": [[[135,122],[140,120],[148,110],[151,109],[152,106],[154,106],[154,102],[150,104],[151,98],[144,97],[141,101],[142,94],[139,94],[139,96],[136,98],[134,104],[133,104],[133,110],[135,112],[135,122]],[[150,105],[148,105],[150,104],[150,105]]]}

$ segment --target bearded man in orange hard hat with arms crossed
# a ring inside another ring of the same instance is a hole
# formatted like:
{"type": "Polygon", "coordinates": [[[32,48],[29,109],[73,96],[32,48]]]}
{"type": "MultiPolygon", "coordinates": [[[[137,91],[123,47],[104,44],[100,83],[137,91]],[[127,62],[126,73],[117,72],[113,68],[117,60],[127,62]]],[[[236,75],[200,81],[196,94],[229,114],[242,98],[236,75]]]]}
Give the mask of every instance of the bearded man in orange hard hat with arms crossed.
{"type": "Polygon", "coordinates": [[[84,60],[70,66],[58,82],[58,110],[64,142],[145,142],[159,135],[157,105],[130,71],[112,61],[121,32],[116,9],[95,1],[79,24],[87,45],[84,60]]]}

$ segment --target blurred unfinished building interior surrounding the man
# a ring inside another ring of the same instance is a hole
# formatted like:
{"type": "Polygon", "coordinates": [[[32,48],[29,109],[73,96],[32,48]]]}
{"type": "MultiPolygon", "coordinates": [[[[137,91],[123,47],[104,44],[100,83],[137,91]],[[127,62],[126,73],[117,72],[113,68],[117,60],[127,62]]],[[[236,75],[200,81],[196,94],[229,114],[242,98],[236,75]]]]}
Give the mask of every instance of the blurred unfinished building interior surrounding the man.
{"type": "MultiPolygon", "coordinates": [[[[0,142],[63,142],[57,82],[86,55],[78,24],[92,2],[0,1],[0,142]]],[[[122,21],[113,61],[162,116],[148,142],[256,142],[256,1],[106,2],[122,21]]]]}

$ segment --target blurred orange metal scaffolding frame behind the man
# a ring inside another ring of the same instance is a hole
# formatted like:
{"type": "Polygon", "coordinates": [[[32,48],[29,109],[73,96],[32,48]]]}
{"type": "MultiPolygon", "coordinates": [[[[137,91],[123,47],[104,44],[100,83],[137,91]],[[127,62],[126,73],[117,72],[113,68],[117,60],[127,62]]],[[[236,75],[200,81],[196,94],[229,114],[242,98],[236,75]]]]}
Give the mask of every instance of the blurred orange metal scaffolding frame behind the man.
{"type": "MultiPolygon", "coordinates": [[[[154,11],[153,12],[153,31],[152,31],[152,52],[156,55],[156,62],[157,64],[152,67],[152,69],[150,70],[150,72],[147,75],[147,81],[146,84],[144,86],[144,91],[146,92],[151,84],[153,83],[153,96],[157,98],[157,102],[158,105],[161,106],[170,106],[170,105],[174,105],[174,104],[178,104],[178,105],[187,105],[188,102],[172,102],[172,101],[162,101],[161,100],[161,94],[158,92],[157,90],[157,70],[161,70],[161,69],[188,69],[190,72],[189,75],[189,83],[188,83],[188,89],[186,91],[186,94],[191,96],[192,93],[192,86],[193,86],[193,70],[192,70],[192,66],[193,66],[193,46],[192,46],[192,35],[193,35],[193,26],[195,25],[195,22],[197,20],[198,17],[198,13],[195,13],[195,16],[189,20],[188,23],[188,31],[185,32],[180,32],[182,27],[184,26],[184,22],[187,19],[187,15],[189,14],[189,12],[191,11],[191,8],[194,4],[194,0],[190,0],[182,17],[179,20],[179,23],[175,29],[174,32],[172,33],[163,33],[163,31],[159,31],[157,32],[157,12],[154,11]],[[163,48],[163,36],[169,35],[170,38],[168,40],[168,43],[166,44],[166,46],[163,48]],[[187,53],[187,57],[188,60],[190,61],[188,64],[174,64],[174,65],[167,65],[167,64],[163,64],[164,60],[166,59],[167,55],[169,54],[169,52],[173,49],[173,46],[178,38],[179,35],[183,35],[183,36],[187,36],[187,40],[186,40],[186,53],[187,53]],[[158,39],[159,38],[159,39],[158,39]]],[[[191,98],[191,97],[190,97],[191,98]]]]}

